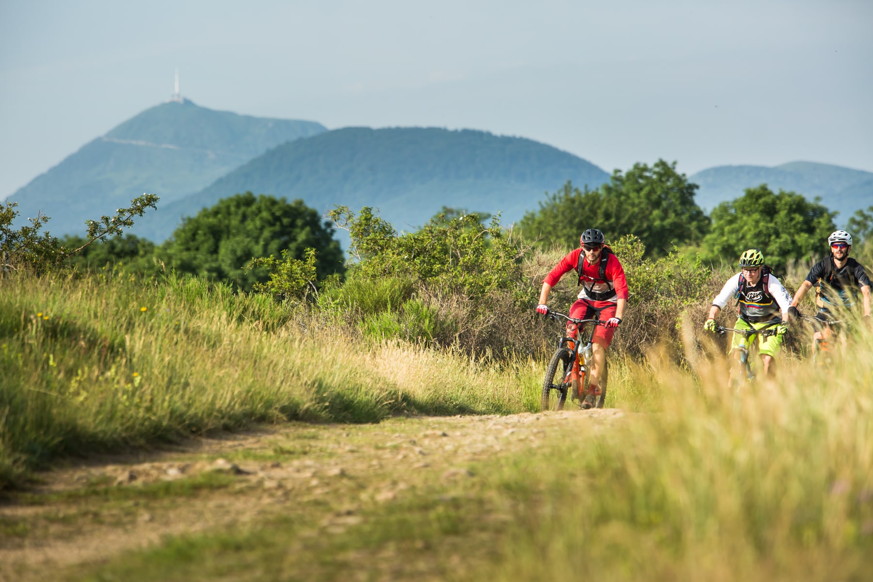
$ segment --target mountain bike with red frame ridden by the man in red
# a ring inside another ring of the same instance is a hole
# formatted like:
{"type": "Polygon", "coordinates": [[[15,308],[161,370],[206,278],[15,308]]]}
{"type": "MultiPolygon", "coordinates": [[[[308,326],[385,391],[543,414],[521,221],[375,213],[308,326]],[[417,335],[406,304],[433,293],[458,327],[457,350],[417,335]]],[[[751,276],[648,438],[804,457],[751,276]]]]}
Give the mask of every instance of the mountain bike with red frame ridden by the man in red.
{"type": "MultiPolygon", "coordinates": [[[[601,319],[576,319],[568,317],[563,313],[551,311],[548,312],[546,317],[555,321],[560,321],[560,318],[564,318],[567,322],[576,325],[576,336],[578,339],[567,337],[567,327],[565,325],[565,332],[558,340],[558,349],[549,361],[548,367],[546,367],[546,378],[543,380],[543,394],[540,406],[544,411],[552,409],[563,410],[564,403],[567,401],[567,391],[573,386],[574,380],[576,380],[576,385],[579,387],[579,395],[588,394],[588,368],[594,360],[591,338],[594,335],[595,325],[606,325],[606,322],[601,319]]],[[[603,373],[605,377],[605,369],[603,373]]],[[[596,401],[596,407],[598,408],[602,408],[603,401],[606,400],[605,382],[602,384],[599,399],[596,401]]],[[[576,397],[577,394],[572,394],[571,400],[576,397]]],[[[581,398],[578,400],[581,401],[581,398]]],[[[580,406],[583,408],[591,407],[590,404],[585,402],[582,402],[580,406]]]]}

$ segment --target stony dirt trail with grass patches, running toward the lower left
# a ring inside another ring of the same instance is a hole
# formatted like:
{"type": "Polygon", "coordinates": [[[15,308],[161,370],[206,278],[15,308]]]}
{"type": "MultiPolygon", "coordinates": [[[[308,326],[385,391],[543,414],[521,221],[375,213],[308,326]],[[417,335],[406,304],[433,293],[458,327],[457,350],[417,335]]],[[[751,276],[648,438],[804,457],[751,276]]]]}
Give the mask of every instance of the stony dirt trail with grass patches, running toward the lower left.
{"type": "Polygon", "coordinates": [[[291,423],[91,459],[41,474],[34,490],[0,505],[0,580],[51,579],[168,534],[222,531],[279,512],[342,531],[363,503],[390,502],[435,479],[464,479],[471,462],[621,416],[605,409],[291,423]]]}

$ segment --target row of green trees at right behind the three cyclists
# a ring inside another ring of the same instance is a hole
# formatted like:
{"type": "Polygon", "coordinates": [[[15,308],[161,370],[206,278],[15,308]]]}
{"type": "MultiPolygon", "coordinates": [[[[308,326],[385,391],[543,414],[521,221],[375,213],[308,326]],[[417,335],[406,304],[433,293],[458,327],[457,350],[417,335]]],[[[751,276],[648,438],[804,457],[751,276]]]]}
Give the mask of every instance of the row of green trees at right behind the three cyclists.
{"type": "MultiPolygon", "coordinates": [[[[567,182],[546,195],[519,226],[540,245],[573,245],[582,230],[597,228],[608,240],[639,237],[647,257],[663,257],[678,248],[712,264],[733,263],[743,250],[757,247],[777,269],[821,255],[822,241],[836,229],[836,213],[819,198],[810,201],[802,194],[781,189],[777,193],[760,184],[721,202],[706,216],[694,201],[697,189],[677,172],[675,161],[637,163],[627,172],[616,170],[596,190],[567,182]]],[[[873,229],[871,213],[873,208],[849,219],[859,242],[873,229]]]]}

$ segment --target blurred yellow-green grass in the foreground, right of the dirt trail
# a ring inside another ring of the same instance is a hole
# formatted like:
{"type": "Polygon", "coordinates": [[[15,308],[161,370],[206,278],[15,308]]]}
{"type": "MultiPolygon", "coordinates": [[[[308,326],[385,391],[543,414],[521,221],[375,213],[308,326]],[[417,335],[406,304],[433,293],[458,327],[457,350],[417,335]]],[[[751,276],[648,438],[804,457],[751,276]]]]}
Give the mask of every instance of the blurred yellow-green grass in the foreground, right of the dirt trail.
{"type": "Polygon", "coordinates": [[[699,383],[653,364],[636,381],[660,414],[550,433],[339,534],[279,516],[168,538],[87,579],[869,579],[871,349],[868,335],[833,369],[801,362],[739,394],[721,363],[699,383]]]}

